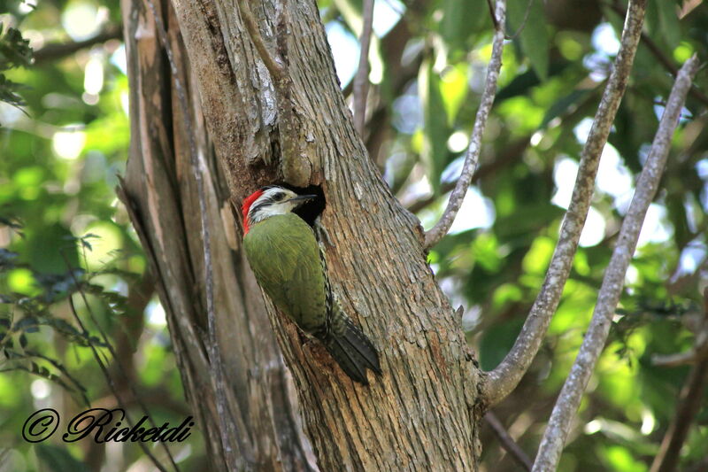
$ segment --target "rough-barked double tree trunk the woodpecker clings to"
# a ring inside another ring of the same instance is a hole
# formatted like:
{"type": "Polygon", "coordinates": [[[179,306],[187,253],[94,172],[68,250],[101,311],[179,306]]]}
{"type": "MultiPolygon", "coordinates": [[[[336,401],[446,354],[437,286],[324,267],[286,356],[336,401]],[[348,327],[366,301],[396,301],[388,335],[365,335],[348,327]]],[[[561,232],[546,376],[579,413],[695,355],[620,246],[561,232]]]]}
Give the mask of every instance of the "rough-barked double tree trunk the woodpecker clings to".
{"type": "MultiPolygon", "coordinates": [[[[278,97],[238,8],[223,0],[150,2],[123,0],[132,135],[122,196],[159,280],[185,394],[213,468],[227,469],[227,444],[239,468],[314,468],[313,450],[322,470],[475,470],[480,371],[427,266],[419,221],[391,195],[354,131],[317,5],[285,4],[297,123],[290,138],[300,154],[290,159],[306,159],[310,183],[324,192],[319,236],[330,282],[381,353],[383,375],[370,376],[368,387],[352,383],[320,344],[304,340],[264,300],[243,258],[229,197],[238,205],[281,180],[285,146],[278,97]],[[167,30],[176,79],[151,8],[167,30]],[[190,120],[178,103],[180,87],[190,120]],[[236,425],[223,443],[205,348],[204,244],[189,135],[207,163],[200,172],[219,352],[227,421],[236,425]]],[[[285,64],[274,36],[283,3],[249,4],[268,49],[285,64]]]]}

